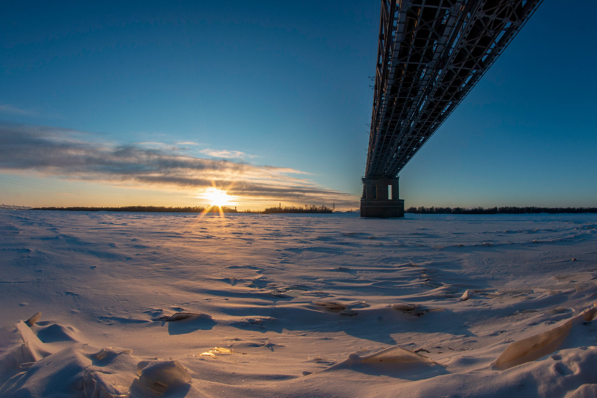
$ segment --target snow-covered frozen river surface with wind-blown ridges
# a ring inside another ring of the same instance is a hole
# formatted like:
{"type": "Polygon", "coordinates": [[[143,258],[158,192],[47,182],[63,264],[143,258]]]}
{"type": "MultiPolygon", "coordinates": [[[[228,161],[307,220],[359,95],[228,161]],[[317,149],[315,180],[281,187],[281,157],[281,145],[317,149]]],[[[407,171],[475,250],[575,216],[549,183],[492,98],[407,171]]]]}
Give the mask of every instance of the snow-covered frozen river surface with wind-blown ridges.
{"type": "Polygon", "coordinates": [[[596,238],[589,214],[0,210],[0,396],[593,397],[596,238]]]}

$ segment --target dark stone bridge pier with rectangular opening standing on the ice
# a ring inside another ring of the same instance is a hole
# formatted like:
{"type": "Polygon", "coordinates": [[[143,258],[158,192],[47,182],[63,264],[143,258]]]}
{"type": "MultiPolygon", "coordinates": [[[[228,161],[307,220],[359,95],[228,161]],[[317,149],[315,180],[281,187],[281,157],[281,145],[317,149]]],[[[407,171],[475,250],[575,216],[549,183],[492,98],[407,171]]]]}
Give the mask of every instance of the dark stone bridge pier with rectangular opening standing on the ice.
{"type": "Polygon", "coordinates": [[[404,217],[404,200],[398,199],[398,177],[362,180],[361,217],[404,217]]]}

